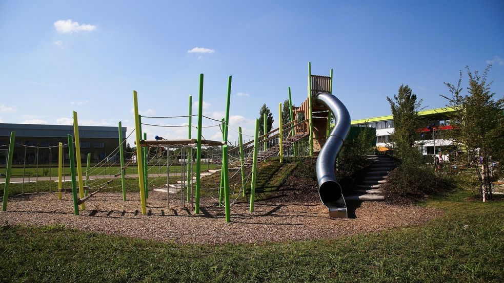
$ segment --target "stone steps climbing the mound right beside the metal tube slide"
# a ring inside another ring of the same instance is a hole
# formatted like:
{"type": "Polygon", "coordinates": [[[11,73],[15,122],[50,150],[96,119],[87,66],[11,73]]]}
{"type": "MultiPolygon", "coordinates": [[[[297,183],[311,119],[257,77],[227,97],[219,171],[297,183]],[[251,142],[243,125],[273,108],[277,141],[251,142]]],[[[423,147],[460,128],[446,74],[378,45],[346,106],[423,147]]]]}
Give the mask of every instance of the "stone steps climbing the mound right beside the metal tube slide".
{"type": "Polygon", "coordinates": [[[384,201],[385,196],[380,190],[381,184],[387,183],[389,172],[395,168],[392,158],[384,155],[368,155],[367,159],[373,161],[368,167],[366,176],[355,186],[353,195],[345,197],[349,201],[384,201]]]}

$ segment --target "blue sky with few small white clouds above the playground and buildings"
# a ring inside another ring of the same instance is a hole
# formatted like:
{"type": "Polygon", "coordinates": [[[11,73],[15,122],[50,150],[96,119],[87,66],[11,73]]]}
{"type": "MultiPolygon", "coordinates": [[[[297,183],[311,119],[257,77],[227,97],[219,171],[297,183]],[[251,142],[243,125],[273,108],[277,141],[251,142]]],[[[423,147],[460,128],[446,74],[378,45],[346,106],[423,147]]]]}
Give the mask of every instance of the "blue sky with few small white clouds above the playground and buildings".
{"type": "MultiPolygon", "coordinates": [[[[133,90],[144,115],[186,115],[204,73],[204,112],[223,116],[232,75],[231,127],[252,134],[263,103],[276,120],[288,86],[303,102],[308,61],[313,74],[334,69],[333,93],[352,119],[388,115],[386,96],[401,83],[442,107],[443,82],[466,65],[493,63],[500,98],[503,14],[502,1],[0,1],[0,122],[68,124],[77,111],[82,125],[123,121],[130,132],[133,90]]],[[[218,139],[218,128],[204,135],[218,139]]]]}

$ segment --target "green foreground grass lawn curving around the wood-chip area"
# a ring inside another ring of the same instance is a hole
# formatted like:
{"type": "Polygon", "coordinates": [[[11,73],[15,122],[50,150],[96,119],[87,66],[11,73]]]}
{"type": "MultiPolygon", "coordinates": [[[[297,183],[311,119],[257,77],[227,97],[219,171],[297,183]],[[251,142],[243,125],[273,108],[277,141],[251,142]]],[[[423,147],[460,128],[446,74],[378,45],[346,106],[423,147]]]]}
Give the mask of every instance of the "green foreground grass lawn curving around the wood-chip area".
{"type": "Polygon", "coordinates": [[[178,245],[4,225],[0,280],[502,282],[504,202],[466,197],[422,203],[446,214],[421,227],[281,244],[178,245]]]}

